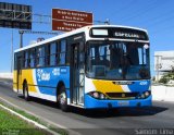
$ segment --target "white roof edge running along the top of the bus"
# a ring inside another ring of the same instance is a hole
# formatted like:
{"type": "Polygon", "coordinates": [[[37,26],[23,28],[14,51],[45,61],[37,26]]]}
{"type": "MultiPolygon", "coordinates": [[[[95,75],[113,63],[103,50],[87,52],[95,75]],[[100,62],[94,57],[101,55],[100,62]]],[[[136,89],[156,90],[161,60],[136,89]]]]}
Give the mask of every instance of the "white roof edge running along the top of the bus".
{"type": "Polygon", "coordinates": [[[67,33],[63,33],[61,35],[58,35],[58,36],[54,36],[52,38],[48,38],[46,40],[42,40],[42,41],[39,41],[39,42],[36,42],[36,44],[32,44],[32,45],[28,45],[26,47],[23,47],[23,48],[20,48],[20,49],[16,49],[14,52],[18,52],[18,51],[23,51],[23,50],[26,50],[26,49],[29,49],[29,48],[33,48],[33,47],[37,47],[37,46],[40,46],[40,45],[45,45],[45,44],[48,44],[48,42],[51,42],[51,41],[54,41],[54,40],[58,40],[58,39],[61,39],[61,38],[65,38],[65,37],[69,37],[69,36],[72,36],[74,34],[79,34],[79,33],[87,33],[88,29],[90,28],[94,28],[94,27],[120,27],[120,28],[130,28],[130,29],[137,29],[137,30],[142,30],[145,33],[147,33],[146,29],[142,29],[142,28],[138,28],[138,27],[130,27],[130,26],[123,26],[123,25],[89,25],[89,26],[85,26],[85,27],[82,27],[82,28],[78,28],[78,29],[75,29],[75,30],[72,30],[72,32],[67,32],[67,33]]]}

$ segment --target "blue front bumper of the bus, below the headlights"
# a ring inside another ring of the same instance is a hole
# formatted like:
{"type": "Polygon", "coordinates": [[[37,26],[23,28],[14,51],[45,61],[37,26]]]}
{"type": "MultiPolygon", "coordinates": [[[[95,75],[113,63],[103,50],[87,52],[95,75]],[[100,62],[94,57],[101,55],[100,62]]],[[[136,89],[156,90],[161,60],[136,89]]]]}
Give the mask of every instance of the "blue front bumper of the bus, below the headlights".
{"type": "Polygon", "coordinates": [[[123,107],[150,107],[152,105],[152,96],[146,99],[130,99],[130,100],[100,100],[85,96],[85,109],[112,109],[123,107]]]}

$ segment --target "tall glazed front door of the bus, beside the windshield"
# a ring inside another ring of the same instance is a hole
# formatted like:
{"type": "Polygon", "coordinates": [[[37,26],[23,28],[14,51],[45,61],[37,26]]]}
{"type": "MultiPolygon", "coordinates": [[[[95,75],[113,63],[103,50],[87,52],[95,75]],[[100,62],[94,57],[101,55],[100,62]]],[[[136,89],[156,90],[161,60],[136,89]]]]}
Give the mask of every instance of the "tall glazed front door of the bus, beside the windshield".
{"type": "Polygon", "coordinates": [[[71,103],[83,106],[85,84],[84,45],[73,44],[71,51],[71,103]]]}

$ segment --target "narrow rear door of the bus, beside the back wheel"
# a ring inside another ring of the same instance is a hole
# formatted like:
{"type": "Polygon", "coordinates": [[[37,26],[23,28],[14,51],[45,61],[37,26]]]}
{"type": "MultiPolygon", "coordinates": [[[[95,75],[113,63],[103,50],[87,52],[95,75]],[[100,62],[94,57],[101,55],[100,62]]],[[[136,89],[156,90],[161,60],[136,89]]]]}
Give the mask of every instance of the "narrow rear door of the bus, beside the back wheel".
{"type": "Polygon", "coordinates": [[[22,86],[20,87],[20,85],[22,84],[22,64],[23,64],[22,56],[17,56],[16,62],[17,62],[16,81],[17,81],[17,93],[18,93],[18,89],[22,89],[22,86]]]}

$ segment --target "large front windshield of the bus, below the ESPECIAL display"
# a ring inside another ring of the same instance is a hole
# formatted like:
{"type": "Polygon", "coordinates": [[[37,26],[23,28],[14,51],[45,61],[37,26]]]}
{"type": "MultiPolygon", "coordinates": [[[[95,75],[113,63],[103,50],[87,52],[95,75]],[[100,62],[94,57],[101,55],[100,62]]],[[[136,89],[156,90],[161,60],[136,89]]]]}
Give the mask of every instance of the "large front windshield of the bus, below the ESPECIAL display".
{"type": "Polygon", "coordinates": [[[148,79],[149,44],[88,41],[86,74],[100,79],[148,79]]]}

